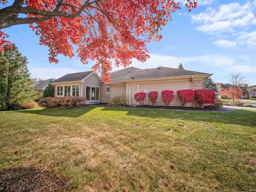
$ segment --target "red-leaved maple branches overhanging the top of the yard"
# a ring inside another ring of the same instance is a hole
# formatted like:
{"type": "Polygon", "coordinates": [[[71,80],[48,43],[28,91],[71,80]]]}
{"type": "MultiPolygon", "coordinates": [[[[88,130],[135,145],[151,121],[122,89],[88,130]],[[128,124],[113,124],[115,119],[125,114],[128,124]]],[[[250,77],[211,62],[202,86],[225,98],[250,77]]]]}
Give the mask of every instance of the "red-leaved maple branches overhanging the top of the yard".
{"type": "MultiPolygon", "coordinates": [[[[185,0],[190,12],[196,0],[185,0]]],[[[160,30],[171,13],[180,9],[177,0],[14,0],[5,6],[0,0],[0,30],[18,24],[30,24],[40,35],[40,44],[48,46],[49,61],[57,63],[58,54],[74,56],[73,45],[83,64],[95,61],[92,70],[101,72],[110,82],[112,63],[128,66],[131,59],[149,58],[146,44],[162,38],[160,30]],[[27,14],[26,18],[18,14],[27,14]]],[[[0,31],[0,50],[10,45],[0,31]]]]}

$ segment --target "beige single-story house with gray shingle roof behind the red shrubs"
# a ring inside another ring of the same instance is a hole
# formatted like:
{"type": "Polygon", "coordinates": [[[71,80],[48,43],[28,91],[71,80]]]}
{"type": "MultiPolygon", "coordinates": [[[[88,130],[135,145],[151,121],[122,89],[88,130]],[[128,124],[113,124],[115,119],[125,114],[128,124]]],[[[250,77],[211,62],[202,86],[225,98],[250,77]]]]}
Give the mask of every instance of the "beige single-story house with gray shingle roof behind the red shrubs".
{"type": "MultiPolygon", "coordinates": [[[[170,106],[180,106],[177,90],[202,89],[202,80],[212,74],[160,66],[150,69],[129,67],[110,75],[112,82],[106,84],[96,72],[66,74],[51,83],[54,96],[81,96],[86,97],[86,104],[96,104],[108,103],[110,98],[124,95],[128,105],[137,105],[134,95],[138,92],[173,90],[175,97],[170,106]]],[[[156,103],[164,106],[161,95],[158,95],[156,103]]],[[[148,98],[146,104],[149,104],[148,98]]],[[[190,106],[196,106],[196,103],[190,106]]]]}

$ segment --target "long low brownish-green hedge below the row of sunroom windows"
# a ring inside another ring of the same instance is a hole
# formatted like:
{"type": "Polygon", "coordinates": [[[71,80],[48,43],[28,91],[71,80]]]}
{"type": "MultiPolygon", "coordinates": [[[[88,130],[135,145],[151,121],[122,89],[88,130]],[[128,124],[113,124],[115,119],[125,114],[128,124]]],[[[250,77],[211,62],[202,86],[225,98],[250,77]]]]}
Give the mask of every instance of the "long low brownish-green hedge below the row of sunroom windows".
{"type": "Polygon", "coordinates": [[[86,98],[78,96],[46,97],[42,98],[38,105],[44,108],[75,107],[82,106],[85,102],[86,98]]]}

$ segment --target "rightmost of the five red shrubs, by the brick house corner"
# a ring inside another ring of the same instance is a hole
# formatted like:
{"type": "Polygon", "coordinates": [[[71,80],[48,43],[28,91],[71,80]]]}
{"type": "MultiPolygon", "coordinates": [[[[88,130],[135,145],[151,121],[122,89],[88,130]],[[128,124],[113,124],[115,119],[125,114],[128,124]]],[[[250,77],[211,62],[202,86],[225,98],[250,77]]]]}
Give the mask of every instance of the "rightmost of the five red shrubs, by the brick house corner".
{"type": "Polygon", "coordinates": [[[195,100],[198,102],[200,108],[203,108],[205,104],[212,104],[216,100],[216,93],[210,89],[195,90],[195,100]]]}

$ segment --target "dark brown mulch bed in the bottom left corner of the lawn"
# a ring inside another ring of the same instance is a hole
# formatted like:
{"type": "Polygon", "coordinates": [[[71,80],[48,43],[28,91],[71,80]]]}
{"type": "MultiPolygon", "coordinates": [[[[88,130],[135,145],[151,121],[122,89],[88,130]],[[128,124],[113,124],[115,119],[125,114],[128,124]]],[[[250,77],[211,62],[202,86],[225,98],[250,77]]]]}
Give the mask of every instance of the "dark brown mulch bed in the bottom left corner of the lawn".
{"type": "Polygon", "coordinates": [[[30,167],[2,170],[0,172],[0,192],[67,192],[67,180],[48,172],[30,167]]]}

